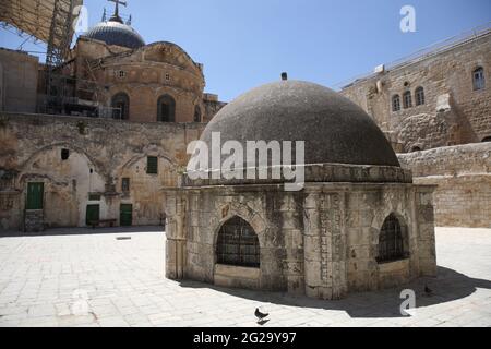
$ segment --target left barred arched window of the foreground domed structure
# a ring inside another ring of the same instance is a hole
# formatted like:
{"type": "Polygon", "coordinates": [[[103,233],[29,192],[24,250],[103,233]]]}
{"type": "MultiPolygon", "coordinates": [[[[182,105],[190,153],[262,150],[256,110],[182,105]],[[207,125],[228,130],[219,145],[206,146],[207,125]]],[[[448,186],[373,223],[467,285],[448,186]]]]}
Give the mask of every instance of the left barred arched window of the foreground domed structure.
{"type": "Polygon", "coordinates": [[[217,263],[260,267],[260,244],[254,229],[242,218],[233,217],[218,232],[217,263]]]}

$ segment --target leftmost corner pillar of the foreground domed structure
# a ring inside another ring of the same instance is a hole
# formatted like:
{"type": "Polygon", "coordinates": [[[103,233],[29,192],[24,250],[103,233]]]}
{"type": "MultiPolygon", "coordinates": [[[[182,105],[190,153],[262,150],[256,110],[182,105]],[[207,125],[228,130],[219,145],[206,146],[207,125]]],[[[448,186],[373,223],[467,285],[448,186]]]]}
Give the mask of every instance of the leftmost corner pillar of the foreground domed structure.
{"type": "Polygon", "coordinates": [[[178,193],[167,196],[166,277],[180,280],[185,273],[185,201],[178,193]]]}

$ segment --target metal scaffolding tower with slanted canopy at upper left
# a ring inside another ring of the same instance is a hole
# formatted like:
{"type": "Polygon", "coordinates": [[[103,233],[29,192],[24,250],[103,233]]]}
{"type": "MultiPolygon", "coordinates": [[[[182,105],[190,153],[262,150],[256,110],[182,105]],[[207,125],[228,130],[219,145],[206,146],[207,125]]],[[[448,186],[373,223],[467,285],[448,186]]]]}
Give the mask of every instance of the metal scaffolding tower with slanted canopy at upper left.
{"type": "Polygon", "coordinates": [[[0,23],[46,43],[46,98],[43,112],[60,113],[64,98],[62,65],[74,34],[75,9],[83,0],[2,0],[0,23]]]}

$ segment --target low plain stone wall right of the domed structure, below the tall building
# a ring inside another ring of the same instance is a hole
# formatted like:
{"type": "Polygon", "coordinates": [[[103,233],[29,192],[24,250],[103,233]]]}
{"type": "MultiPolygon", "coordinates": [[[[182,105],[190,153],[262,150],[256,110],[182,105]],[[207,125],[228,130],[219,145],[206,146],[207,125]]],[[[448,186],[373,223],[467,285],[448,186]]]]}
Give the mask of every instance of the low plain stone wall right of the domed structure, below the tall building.
{"type": "Polygon", "coordinates": [[[435,225],[491,228],[491,143],[398,156],[417,184],[434,184],[435,225]]]}

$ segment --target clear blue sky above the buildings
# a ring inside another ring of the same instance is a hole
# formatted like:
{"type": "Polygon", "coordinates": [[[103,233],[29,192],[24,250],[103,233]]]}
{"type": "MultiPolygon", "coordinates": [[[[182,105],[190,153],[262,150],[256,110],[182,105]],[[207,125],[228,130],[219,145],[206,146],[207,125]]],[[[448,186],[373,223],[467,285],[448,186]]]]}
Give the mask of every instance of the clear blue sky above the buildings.
{"type": "MultiPolygon", "coordinates": [[[[490,0],[128,0],[123,15],[146,43],[181,46],[205,65],[206,91],[229,101],[290,79],[334,86],[374,67],[491,21],[490,0]],[[416,33],[399,28],[403,5],[416,9],[416,33]]],[[[113,3],[85,0],[89,25],[113,3]]],[[[22,40],[0,29],[0,46],[22,40]]],[[[26,50],[46,50],[27,43],[26,50]]]]}

